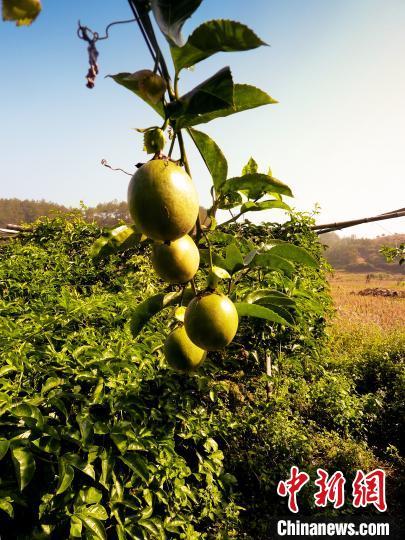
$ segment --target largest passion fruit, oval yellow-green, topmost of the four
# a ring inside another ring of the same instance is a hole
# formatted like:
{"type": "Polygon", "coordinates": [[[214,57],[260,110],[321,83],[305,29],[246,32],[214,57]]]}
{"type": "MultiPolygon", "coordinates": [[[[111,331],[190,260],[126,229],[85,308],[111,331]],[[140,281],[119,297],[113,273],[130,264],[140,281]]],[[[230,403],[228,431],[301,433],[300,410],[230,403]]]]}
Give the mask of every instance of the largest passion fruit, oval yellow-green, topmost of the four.
{"type": "Polygon", "coordinates": [[[176,240],[198,216],[198,196],[189,175],[169,160],[140,167],[128,186],[128,207],[135,227],[152,240],[176,240]]]}

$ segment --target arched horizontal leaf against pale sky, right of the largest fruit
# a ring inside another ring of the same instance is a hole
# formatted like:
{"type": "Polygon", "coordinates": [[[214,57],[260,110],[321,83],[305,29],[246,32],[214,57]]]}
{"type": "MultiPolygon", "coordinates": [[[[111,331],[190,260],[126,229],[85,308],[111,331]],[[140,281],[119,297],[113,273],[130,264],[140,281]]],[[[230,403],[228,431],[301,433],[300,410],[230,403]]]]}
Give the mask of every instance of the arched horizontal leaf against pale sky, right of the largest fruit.
{"type": "Polygon", "coordinates": [[[250,173],[230,178],[222,185],[221,191],[223,193],[243,191],[247,193],[250,199],[259,199],[267,193],[293,196],[291,189],[286,184],[272,176],[261,173],[250,173]]]}

